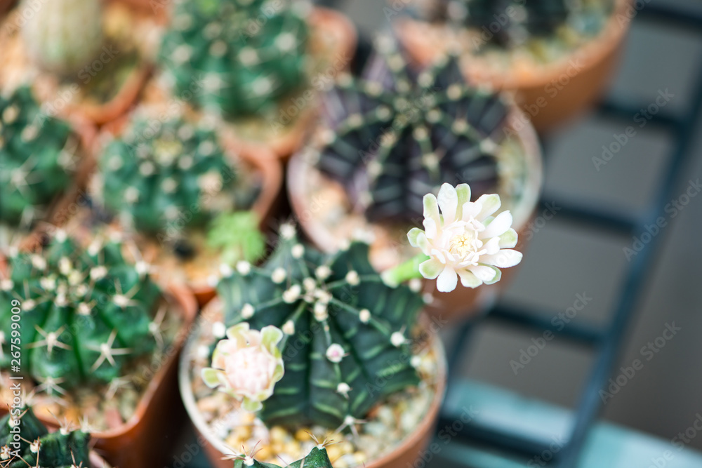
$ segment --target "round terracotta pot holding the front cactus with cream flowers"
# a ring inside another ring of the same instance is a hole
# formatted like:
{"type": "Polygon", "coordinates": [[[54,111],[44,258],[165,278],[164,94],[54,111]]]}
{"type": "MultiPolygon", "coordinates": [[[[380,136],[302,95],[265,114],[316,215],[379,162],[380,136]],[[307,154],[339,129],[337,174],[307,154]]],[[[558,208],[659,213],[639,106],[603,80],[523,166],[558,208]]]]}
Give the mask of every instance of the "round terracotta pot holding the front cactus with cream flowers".
{"type": "MultiPolygon", "coordinates": [[[[220,307],[218,300],[215,299],[208,304],[206,310],[220,307]]],[[[201,416],[197,404],[195,403],[192,388],[190,387],[190,358],[197,349],[197,335],[199,327],[204,323],[208,316],[206,310],[200,315],[198,322],[193,328],[193,332],[183,349],[183,355],[180,356],[180,368],[178,370],[178,385],[180,386],[180,396],[183,398],[185,410],[190,416],[190,421],[197,433],[197,443],[204,448],[205,455],[213,468],[231,468],[230,460],[222,460],[224,455],[230,455],[230,450],[227,450],[224,441],[217,439],[207,429],[207,424],[201,416]]],[[[364,463],[364,468],[404,468],[411,466],[422,455],[423,450],[427,448],[429,442],[434,435],[434,429],[439,418],[439,409],[441,409],[444,394],[446,393],[446,352],[444,345],[438,335],[431,337],[435,354],[437,356],[438,379],[437,389],[434,399],[427,410],[425,417],[418,424],[416,429],[406,436],[406,438],[394,450],[379,457],[376,460],[370,460],[364,463]]]]}

